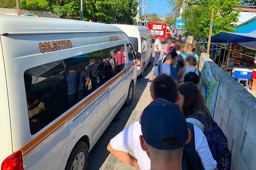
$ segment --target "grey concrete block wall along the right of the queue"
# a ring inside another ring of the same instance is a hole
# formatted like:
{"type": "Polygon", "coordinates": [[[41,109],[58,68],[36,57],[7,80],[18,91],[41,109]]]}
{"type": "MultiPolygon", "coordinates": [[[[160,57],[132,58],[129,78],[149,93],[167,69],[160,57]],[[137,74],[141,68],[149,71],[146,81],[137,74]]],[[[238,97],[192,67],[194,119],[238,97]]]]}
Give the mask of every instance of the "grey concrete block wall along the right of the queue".
{"type": "Polygon", "coordinates": [[[213,76],[220,80],[213,119],[228,138],[233,170],[256,169],[256,98],[234,78],[214,63],[208,54],[201,54],[199,69],[205,60],[213,76]]]}

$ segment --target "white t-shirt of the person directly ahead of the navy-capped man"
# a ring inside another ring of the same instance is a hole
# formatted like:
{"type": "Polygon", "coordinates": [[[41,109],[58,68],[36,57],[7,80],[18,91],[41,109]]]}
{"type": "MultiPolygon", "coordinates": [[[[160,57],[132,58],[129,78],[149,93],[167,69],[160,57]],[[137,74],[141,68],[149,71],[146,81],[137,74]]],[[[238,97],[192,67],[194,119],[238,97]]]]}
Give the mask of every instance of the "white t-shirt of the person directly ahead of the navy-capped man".
{"type": "MultiPolygon", "coordinates": [[[[217,162],[213,159],[206,137],[202,131],[194,126],[195,150],[198,153],[205,170],[213,170],[217,167],[217,162]]],[[[138,165],[143,170],[150,169],[150,159],[146,151],[140,147],[139,136],[142,135],[139,122],[134,122],[117,136],[110,140],[111,147],[118,151],[128,153],[133,151],[138,165]]]]}

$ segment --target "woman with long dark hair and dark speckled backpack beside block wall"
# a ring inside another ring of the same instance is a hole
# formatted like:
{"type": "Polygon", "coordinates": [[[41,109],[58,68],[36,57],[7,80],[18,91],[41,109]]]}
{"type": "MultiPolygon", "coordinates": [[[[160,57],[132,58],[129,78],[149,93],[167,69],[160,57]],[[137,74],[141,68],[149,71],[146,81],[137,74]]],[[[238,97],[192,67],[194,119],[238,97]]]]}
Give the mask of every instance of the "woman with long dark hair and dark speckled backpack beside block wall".
{"type": "Polygon", "coordinates": [[[218,169],[230,170],[231,152],[228,149],[228,140],[218,124],[212,120],[210,111],[200,97],[198,87],[187,82],[179,86],[179,95],[183,103],[179,104],[187,122],[192,123],[204,133],[218,169]]]}

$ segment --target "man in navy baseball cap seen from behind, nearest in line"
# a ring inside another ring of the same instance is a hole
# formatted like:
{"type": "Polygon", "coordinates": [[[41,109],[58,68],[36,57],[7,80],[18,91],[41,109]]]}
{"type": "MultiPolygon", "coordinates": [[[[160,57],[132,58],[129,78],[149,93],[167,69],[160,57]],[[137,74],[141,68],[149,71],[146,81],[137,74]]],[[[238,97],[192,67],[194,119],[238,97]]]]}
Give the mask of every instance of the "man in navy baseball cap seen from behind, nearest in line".
{"type": "Polygon", "coordinates": [[[180,108],[164,99],[154,100],[141,113],[140,125],[140,146],[148,152],[150,169],[181,170],[191,132],[180,108]]]}

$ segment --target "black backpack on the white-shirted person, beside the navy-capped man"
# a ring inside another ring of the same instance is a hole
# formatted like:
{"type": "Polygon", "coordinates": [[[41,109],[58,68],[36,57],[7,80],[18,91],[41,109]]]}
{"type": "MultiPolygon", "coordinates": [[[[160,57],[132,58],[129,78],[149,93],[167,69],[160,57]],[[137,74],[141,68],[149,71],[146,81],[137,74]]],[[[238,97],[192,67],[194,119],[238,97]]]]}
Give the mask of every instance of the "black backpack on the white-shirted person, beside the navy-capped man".
{"type": "Polygon", "coordinates": [[[194,125],[187,122],[188,129],[191,131],[191,140],[185,144],[182,156],[182,170],[204,170],[203,164],[195,150],[194,125]]]}

